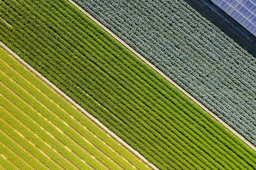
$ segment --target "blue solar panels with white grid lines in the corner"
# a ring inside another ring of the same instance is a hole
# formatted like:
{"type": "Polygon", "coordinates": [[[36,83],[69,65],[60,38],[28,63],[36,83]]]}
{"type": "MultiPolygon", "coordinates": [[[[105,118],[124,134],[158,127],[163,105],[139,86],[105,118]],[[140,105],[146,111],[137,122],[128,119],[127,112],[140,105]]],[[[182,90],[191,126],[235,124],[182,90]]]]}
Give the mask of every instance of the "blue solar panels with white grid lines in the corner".
{"type": "Polygon", "coordinates": [[[212,0],[256,36],[256,0],[212,0]]]}

